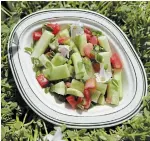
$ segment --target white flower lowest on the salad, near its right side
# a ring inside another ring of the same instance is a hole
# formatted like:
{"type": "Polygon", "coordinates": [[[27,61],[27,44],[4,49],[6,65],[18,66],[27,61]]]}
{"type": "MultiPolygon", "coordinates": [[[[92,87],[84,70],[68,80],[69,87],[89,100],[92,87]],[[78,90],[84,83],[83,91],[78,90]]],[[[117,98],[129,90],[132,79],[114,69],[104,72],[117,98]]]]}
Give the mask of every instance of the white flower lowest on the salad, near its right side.
{"type": "Polygon", "coordinates": [[[96,76],[96,81],[97,82],[101,82],[101,83],[105,83],[107,81],[109,81],[112,77],[112,73],[105,70],[104,69],[104,65],[101,65],[100,67],[100,72],[99,73],[95,73],[96,76]]]}

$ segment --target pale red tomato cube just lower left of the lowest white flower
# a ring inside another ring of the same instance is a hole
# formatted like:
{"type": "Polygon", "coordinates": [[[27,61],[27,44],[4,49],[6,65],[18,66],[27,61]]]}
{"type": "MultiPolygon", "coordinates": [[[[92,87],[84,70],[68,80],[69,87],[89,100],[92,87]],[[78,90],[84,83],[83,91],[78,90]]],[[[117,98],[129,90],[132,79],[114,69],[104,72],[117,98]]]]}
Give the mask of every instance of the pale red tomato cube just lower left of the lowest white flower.
{"type": "Polygon", "coordinates": [[[90,78],[85,82],[85,89],[95,89],[96,88],[96,80],[95,78],[90,78]]]}

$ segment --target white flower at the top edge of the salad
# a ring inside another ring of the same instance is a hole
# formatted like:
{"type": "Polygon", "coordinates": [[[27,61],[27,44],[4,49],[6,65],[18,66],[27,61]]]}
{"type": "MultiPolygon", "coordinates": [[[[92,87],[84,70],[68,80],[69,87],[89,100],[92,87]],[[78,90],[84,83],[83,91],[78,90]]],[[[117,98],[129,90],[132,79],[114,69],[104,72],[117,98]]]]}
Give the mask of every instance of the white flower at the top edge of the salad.
{"type": "Polygon", "coordinates": [[[80,21],[71,25],[71,38],[84,34],[83,24],[80,21]]]}

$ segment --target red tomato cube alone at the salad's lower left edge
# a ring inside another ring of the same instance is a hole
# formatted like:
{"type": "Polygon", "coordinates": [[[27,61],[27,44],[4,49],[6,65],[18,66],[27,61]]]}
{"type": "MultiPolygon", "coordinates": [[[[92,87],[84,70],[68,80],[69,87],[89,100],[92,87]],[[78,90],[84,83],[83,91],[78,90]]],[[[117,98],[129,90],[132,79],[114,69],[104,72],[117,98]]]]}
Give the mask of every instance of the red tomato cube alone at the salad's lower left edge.
{"type": "Polygon", "coordinates": [[[38,75],[36,79],[42,88],[45,88],[49,83],[48,79],[43,74],[38,75]]]}

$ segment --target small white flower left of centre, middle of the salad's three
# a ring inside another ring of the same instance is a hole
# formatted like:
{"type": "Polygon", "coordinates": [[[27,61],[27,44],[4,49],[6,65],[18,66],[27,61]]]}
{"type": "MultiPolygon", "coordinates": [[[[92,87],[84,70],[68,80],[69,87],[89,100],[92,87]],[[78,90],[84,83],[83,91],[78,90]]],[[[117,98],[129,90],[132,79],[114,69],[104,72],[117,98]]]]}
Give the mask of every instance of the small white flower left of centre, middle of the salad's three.
{"type": "Polygon", "coordinates": [[[60,54],[64,57],[67,56],[67,58],[69,58],[69,46],[68,45],[59,45],[58,51],[60,52],[60,54]]]}

